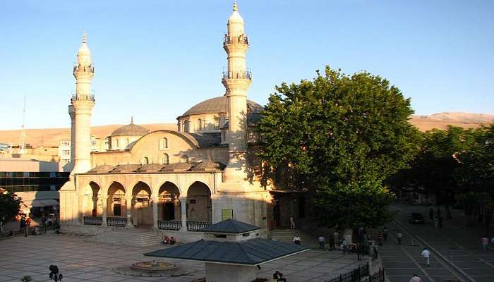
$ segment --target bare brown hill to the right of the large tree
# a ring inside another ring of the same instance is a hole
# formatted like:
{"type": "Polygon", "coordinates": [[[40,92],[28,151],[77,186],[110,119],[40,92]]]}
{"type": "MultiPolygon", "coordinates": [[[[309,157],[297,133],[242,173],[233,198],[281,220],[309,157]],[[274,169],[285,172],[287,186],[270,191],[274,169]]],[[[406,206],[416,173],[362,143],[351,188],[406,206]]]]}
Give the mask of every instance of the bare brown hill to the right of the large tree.
{"type": "Polygon", "coordinates": [[[446,112],[428,116],[411,116],[409,122],[421,131],[427,131],[433,128],[445,129],[447,125],[462,128],[478,128],[481,124],[493,123],[494,115],[446,112]]]}

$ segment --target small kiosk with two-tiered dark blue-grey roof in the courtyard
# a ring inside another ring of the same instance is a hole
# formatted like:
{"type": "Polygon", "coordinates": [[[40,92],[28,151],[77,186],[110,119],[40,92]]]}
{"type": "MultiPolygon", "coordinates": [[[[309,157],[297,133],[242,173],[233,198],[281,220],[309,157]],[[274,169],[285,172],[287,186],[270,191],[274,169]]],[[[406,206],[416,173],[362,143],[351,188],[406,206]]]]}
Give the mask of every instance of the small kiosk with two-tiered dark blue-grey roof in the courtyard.
{"type": "Polygon", "coordinates": [[[259,238],[258,230],[258,226],[227,219],[203,228],[203,240],[144,255],[205,262],[208,282],[251,282],[256,276],[256,266],[309,249],[259,238]]]}

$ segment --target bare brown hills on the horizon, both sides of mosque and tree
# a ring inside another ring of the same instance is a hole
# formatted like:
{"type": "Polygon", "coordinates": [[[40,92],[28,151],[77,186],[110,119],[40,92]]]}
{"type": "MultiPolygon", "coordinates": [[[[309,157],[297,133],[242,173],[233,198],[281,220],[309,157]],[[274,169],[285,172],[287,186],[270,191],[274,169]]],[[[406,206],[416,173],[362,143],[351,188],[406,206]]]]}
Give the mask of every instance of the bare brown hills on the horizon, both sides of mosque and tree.
{"type": "MultiPolygon", "coordinates": [[[[494,115],[469,113],[438,113],[428,116],[411,116],[409,122],[421,131],[433,128],[445,129],[447,125],[462,128],[477,128],[481,124],[493,123],[494,115]]],[[[160,129],[176,130],[175,123],[141,124],[145,128],[155,131],[160,129]]],[[[112,134],[121,124],[92,126],[91,135],[104,138],[112,134]]],[[[69,140],[70,128],[26,129],[27,142],[33,147],[58,147],[61,140],[69,140]]],[[[0,143],[18,145],[20,130],[0,130],[0,143]]]]}

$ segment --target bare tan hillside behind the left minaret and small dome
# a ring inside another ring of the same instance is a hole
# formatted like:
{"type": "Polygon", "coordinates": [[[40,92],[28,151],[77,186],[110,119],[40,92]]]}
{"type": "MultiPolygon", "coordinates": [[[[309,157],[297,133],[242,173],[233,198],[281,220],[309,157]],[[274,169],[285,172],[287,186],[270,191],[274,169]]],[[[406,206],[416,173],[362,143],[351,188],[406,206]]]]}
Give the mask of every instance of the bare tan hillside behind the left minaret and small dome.
{"type": "MultiPolygon", "coordinates": [[[[99,138],[107,137],[112,134],[113,130],[121,127],[123,124],[100,125],[91,127],[91,135],[99,138]]],[[[176,130],[175,123],[152,123],[140,124],[150,131],[168,129],[176,130]]],[[[33,147],[58,147],[61,140],[70,140],[70,128],[43,128],[43,129],[26,129],[26,142],[33,147]]],[[[20,130],[0,130],[0,143],[18,145],[20,130]]]]}

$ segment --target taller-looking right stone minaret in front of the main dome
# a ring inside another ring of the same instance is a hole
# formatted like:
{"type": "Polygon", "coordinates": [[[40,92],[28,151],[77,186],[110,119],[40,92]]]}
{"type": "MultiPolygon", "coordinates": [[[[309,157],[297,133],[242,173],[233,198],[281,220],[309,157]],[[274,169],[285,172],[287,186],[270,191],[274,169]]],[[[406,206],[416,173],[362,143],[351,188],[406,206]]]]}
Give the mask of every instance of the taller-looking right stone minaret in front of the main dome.
{"type": "Polygon", "coordinates": [[[223,181],[239,183],[248,178],[247,152],[247,90],[251,85],[251,72],[246,68],[247,35],[243,32],[243,18],[234,3],[228,19],[228,34],[223,48],[227,52],[228,71],[223,73],[222,83],[227,89],[229,127],[229,161],[223,172],[223,181]]]}

